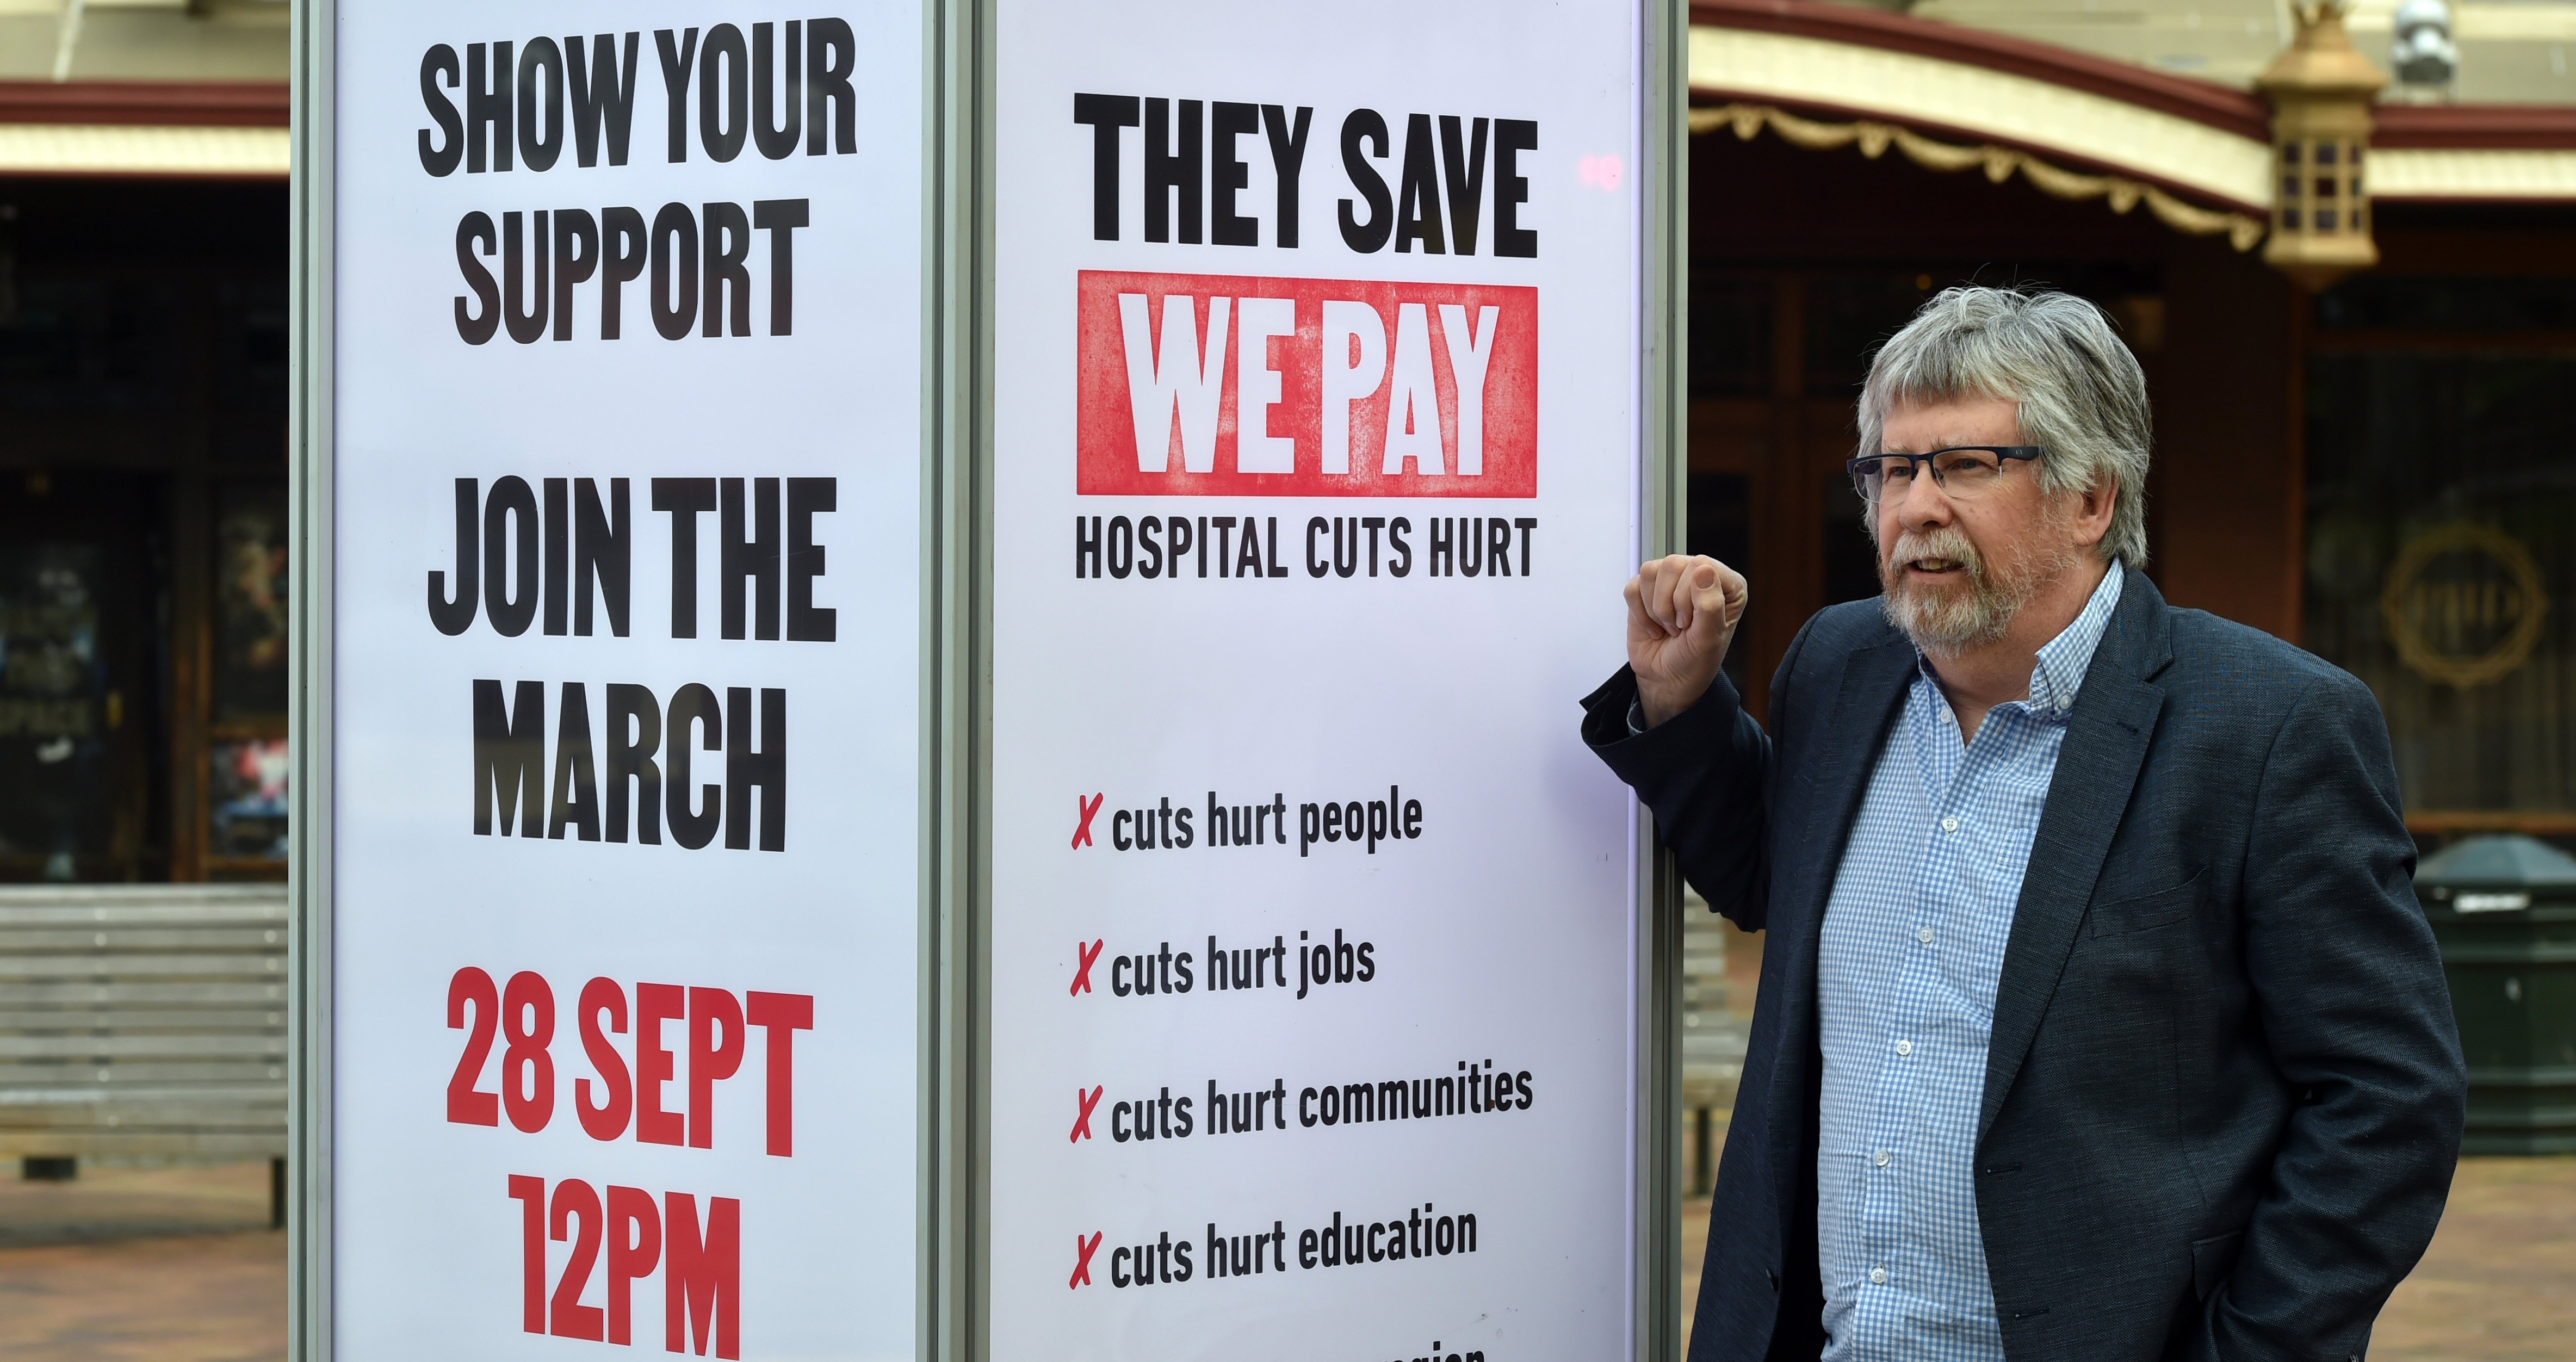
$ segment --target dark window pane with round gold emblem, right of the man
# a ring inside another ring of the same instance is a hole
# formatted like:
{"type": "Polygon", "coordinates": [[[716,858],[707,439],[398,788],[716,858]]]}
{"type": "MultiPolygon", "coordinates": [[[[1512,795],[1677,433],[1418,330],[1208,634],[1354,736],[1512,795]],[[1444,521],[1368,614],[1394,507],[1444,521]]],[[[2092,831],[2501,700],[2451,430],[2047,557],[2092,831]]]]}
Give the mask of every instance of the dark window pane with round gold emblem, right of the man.
{"type": "Polygon", "coordinates": [[[2316,355],[2306,644],[2370,682],[2409,811],[2576,808],[2576,358],[2316,355]]]}

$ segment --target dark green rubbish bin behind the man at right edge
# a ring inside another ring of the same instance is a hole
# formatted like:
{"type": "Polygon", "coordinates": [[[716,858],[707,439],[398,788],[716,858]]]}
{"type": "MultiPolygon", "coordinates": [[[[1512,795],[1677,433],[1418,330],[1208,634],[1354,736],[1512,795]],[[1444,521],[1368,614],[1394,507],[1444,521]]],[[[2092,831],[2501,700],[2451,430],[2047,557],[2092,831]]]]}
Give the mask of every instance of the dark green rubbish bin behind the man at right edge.
{"type": "Polygon", "coordinates": [[[2470,837],[2424,857],[2416,896],[2468,1056],[2460,1153],[2576,1153],[2576,857],[2470,837]]]}

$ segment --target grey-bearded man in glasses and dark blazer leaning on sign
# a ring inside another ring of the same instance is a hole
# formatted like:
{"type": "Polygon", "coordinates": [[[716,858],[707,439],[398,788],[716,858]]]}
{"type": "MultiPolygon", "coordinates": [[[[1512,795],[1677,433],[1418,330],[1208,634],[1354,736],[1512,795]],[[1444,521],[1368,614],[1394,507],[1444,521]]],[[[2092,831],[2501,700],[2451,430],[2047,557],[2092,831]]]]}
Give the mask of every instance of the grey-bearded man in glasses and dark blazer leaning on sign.
{"type": "Polygon", "coordinates": [[[2370,690],[2138,572],[2146,378],[2087,301],[1880,348],[1883,595],[1754,723],[1747,582],[1662,559],[1584,739],[1767,929],[1692,1362],[2344,1359],[2465,1076],[2370,690]]]}

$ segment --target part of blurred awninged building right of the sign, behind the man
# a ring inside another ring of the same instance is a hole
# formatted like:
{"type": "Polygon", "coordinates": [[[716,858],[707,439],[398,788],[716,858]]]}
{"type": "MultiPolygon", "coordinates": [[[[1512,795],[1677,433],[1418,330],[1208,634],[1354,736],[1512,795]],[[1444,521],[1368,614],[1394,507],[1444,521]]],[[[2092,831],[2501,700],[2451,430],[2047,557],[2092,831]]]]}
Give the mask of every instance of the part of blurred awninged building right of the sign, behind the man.
{"type": "Polygon", "coordinates": [[[1875,595],[1870,348],[1947,283],[2050,283],[2146,363],[2166,597],[2367,680],[2427,847],[2576,834],[2576,5],[2311,18],[1692,5],[1692,541],[1762,584],[1757,705],[1875,595]]]}

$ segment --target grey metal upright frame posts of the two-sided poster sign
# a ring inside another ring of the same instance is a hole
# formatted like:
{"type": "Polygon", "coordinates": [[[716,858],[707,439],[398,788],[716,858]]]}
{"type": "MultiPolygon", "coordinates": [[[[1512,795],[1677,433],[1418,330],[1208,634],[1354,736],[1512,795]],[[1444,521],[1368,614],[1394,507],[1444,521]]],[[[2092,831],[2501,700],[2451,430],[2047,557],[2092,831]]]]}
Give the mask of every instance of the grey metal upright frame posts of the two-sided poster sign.
{"type": "MultiPolygon", "coordinates": [[[[1677,551],[1687,505],[1690,278],[1685,124],[1690,21],[1638,0],[1643,108],[1636,518],[1643,554],[1677,551]]],[[[992,754],[992,242],[994,5],[925,0],[922,260],[922,842],[920,842],[920,1210],[917,1357],[987,1357],[989,1210],[984,1087],[989,1017],[992,754]]],[[[294,693],[289,739],[289,1357],[332,1357],[332,762],[335,762],[335,108],[330,0],[291,15],[294,170],[289,224],[289,507],[294,693]]],[[[1602,602],[1610,610],[1610,602],[1602,602]]],[[[1680,875],[1636,814],[1633,935],[1633,1323],[1631,1354],[1680,1357],[1680,875]]]]}

